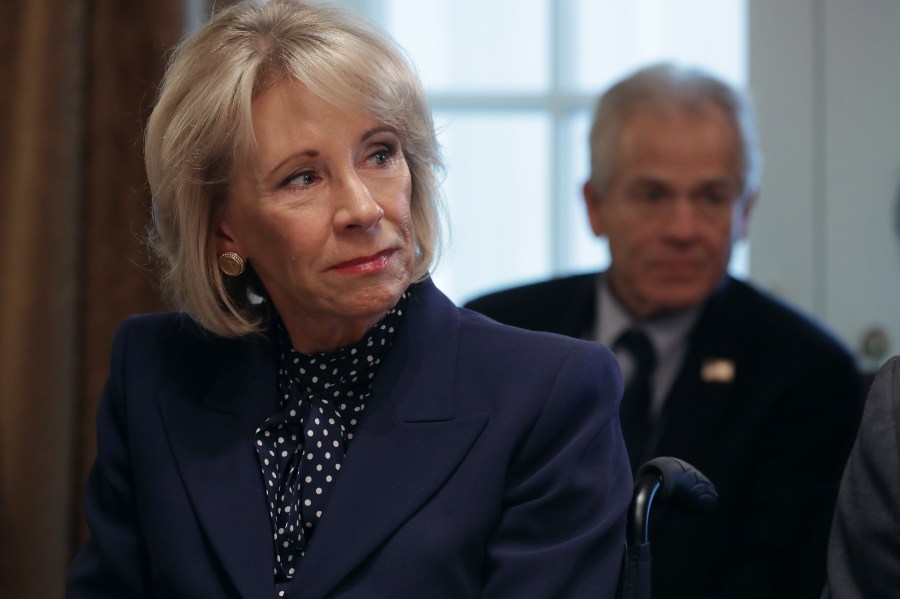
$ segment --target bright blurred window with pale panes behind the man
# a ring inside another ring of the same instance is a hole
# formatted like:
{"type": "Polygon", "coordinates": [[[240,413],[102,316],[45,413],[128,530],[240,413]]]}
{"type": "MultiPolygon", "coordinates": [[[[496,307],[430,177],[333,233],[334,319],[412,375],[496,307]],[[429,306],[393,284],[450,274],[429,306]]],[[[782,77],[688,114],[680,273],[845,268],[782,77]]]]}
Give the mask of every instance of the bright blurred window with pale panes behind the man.
{"type": "MultiPolygon", "coordinates": [[[[352,0],[416,64],[447,162],[438,286],[464,302],[599,269],[581,199],[597,95],[659,60],[743,86],[746,0],[352,0]]],[[[732,272],[746,275],[746,248],[732,272]]]]}

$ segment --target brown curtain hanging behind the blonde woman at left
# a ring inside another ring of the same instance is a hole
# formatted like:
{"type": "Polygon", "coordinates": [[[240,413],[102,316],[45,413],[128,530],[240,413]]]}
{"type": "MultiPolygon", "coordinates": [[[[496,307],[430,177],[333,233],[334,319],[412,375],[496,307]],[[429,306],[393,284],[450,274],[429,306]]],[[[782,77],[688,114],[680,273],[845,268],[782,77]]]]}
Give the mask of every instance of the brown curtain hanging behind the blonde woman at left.
{"type": "Polygon", "coordinates": [[[64,594],[116,324],[163,307],[141,129],[187,0],[12,0],[0,19],[0,596],[64,594]]]}

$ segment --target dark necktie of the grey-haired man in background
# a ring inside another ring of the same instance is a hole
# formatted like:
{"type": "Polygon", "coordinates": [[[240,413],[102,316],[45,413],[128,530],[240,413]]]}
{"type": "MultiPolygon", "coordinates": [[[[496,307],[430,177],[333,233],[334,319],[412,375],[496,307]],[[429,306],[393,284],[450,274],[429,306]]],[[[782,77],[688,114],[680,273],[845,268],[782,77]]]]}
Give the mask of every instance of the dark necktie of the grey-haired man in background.
{"type": "Polygon", "coordinates": [[[634,372],[625,385],[619,419],[631,469],[636,472],[648,457],[644,454],[650,433],[650,403],[653,398],[656,352],[646,333],[639,329],[628,329],[622,333],[614,347],[627,351],[635,365],[634,372]]]}

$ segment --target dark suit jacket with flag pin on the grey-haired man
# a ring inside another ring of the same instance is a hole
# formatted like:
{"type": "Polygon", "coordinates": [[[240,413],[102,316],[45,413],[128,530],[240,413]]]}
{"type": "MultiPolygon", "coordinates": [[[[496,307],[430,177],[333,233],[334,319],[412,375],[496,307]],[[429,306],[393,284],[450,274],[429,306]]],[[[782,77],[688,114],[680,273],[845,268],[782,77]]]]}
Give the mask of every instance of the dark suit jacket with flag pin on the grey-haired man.
{"type": "MultiPolygon", "coordinates": [[[[502,291],[468,307],[516,326],[593,333],[596,275],[502,291]]],[[[860,410],[852,356],[808,319],[727,279],[704,306],[643,458],[670,455],[716,485],[711,516],[657,510],[654,599],[817,597],[860,410]],[[708,382],[704,363],[735,366],[708,382]]]]}

